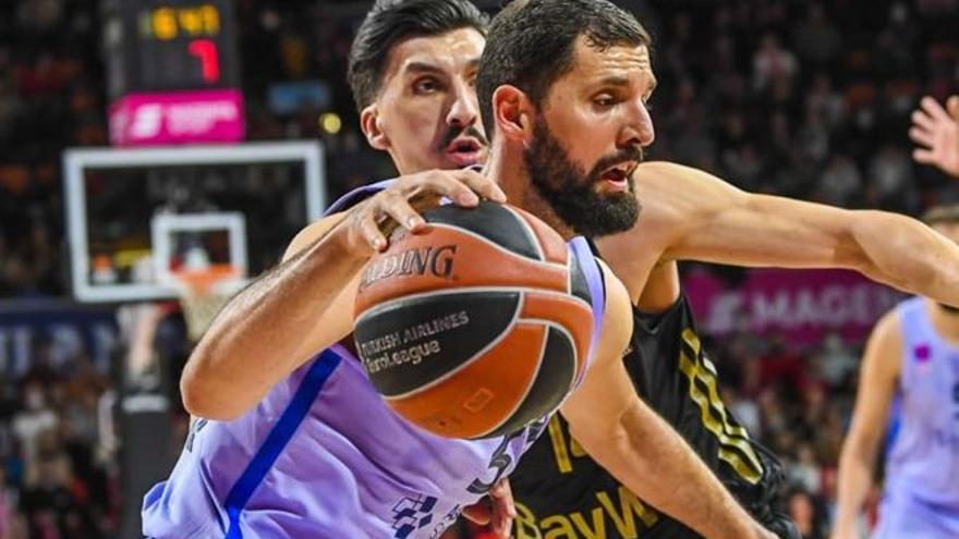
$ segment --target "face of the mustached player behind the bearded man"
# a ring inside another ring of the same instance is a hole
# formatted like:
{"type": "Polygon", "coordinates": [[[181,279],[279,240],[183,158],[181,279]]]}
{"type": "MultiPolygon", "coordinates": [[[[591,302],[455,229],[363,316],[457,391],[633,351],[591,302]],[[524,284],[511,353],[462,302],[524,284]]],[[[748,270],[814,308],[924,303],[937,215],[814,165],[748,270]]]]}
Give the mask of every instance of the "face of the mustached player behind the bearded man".
{"type": "Polygon", "coordinates": [[[486,39],[474,28],[412,37],[390,51],[371,144],[390,152],[400,173],[482,163],[487,140],[476,101],[476,71],[486,39]]]}

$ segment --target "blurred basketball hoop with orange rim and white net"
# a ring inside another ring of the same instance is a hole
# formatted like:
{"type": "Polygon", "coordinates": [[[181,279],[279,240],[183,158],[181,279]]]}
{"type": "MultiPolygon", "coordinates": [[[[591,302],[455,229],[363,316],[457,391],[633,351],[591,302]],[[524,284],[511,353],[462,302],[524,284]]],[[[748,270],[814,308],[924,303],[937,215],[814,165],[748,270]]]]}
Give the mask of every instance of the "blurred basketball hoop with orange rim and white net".
{"type": "Polygon", "coordinates": [[[211,264],[202,269],[172,271],[177,295],[192,342],[209,329],[220,309],[243,286],[240,270],[230,264],[211,264]]]}

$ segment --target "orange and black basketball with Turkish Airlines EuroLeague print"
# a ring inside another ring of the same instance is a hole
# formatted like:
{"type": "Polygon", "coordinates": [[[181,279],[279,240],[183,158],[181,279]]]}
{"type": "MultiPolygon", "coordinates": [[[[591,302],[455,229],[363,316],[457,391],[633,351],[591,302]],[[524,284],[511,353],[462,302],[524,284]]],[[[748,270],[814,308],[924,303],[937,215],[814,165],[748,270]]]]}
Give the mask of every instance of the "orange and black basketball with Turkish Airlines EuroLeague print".
{"type": "Polygon", "coordinates": [[[509,205],[442,206],[398,230],[361,278],[356,351],[386,403],[447,438],[513,432],[559,406],[593,335],[562,237],[509,205]]]}

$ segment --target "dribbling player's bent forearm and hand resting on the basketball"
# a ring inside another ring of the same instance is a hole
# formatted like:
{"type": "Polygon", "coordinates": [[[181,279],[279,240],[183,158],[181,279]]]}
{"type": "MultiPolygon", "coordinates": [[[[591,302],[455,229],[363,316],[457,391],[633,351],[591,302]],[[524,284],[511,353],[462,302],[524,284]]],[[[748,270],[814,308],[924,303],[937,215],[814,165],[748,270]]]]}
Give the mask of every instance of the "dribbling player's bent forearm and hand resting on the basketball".
{"type": "Polygon", "coordinates": [[[280,380],[352,332],[360,273],[387,247],[397,223],[426,230],[420,211],[447,197],[475,206],[505,200],[499,187],[469,170],[401,176],[347,212],[304,229],[283,262],[230,301],[190,357],[180,389],[196,416],[229,420],[259,402],[280,380]],[[478,196],[477,196],[478,195],[478,196]]]}

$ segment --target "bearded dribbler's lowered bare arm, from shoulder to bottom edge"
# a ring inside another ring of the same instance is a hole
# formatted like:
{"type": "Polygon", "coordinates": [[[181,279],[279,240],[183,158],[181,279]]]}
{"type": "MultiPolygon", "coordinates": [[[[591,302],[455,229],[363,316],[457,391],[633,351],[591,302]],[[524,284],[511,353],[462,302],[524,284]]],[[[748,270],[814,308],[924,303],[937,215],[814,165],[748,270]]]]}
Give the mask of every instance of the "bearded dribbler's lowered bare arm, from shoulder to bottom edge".
{"type": "Polygon", "coordinates": [[[604,268],[607,309],[595,364],[561,413],[583,449],[636,495],[707,538],[774,538],[682,438],[640,400],[622,365],[632,311],[604,268]]]}

